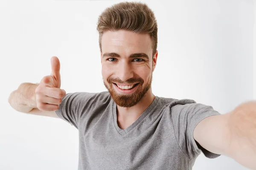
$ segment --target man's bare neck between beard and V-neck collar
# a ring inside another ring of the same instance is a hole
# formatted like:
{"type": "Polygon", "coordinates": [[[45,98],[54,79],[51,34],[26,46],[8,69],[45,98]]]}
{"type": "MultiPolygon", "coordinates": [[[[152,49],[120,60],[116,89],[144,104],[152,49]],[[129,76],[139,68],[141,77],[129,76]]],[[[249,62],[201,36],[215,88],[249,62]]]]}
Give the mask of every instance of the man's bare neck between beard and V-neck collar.
{"type": "Polygon", "coordinates": [[[143,99],[131,108],[122,108],[117,105],[117,123],[120,128],[125,129],[135,122],[140,115],[148,108],[153,102],[155,96],[151,91],[151,88],[145,94],[143,99]]]}

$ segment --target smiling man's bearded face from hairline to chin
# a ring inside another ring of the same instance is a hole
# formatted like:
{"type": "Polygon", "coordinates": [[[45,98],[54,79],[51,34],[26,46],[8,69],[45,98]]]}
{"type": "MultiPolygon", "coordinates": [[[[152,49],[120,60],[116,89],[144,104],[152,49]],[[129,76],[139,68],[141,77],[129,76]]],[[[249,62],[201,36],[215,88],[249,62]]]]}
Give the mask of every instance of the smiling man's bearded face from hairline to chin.
{"type": "Polygon", "coordinates": [[[136,105],[151,89],[157,54],[148,34],[107,31],[102,36],[102,77],[117,105],[136,105]]]}

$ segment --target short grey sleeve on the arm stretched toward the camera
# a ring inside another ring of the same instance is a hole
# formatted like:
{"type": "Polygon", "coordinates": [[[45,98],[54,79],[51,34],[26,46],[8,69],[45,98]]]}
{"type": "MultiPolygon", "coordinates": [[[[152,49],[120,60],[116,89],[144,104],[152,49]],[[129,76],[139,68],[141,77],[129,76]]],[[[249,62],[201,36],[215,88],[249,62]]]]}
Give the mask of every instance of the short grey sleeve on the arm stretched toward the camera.
{"type": "Polygon", "coordinates": [[[209,116],[219,114],[220,113],[215,111],[212,106],[200,103],[189,103],[172,107],[172,122],[175,137],[181,150],[189,159],[197,157],[201,151],[207,158],[217,158],[220,156],[201,147],[201,145],[195,141],[193,135],[195,127],[199,122],[209,116]]]}

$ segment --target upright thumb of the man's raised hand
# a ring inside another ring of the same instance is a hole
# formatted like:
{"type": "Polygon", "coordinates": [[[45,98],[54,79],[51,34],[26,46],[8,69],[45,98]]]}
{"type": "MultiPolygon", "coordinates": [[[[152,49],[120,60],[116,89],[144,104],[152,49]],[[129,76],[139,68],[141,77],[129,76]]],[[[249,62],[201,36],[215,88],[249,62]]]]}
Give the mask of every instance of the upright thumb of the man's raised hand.
{"type": "Polygon", "coordinates": [[[52,65],[52,73],[51,76],[56,80],[56,88],[61,87],[61,74],[60,74],[60,69],[61,69],[61,64],[58,59],[58,57],[52,57],[51,58],[51,65],[52,65]]]}

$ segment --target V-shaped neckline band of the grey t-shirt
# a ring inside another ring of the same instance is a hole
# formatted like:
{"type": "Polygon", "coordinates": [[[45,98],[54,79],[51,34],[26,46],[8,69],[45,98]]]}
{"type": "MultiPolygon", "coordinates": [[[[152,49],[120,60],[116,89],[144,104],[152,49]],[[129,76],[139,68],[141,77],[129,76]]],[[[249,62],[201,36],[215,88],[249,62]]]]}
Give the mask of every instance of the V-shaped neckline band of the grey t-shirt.
{"type": "Polygon", "coordinates": [[[140,115],[140,117],[133,122],[129,127],[127,127],[126,129],[121,129],[118,125],[117,125],[117,115],[116,115],[116,102],[113,101],[113,122],[114,125],[116,127],[117,132],[120,135],[125,135],[126,133],[128,133],[129,131],[131,131],[135,126],[137,126],[144,118],[145,116],[148,115],[148,113],[150,113],[152,111],[152,109],[154,108],[154,106],[157,104],[159,97],[155,96],[153,102],[148,106],[148,108],[146,108],[146,110],[140,115]]]}

